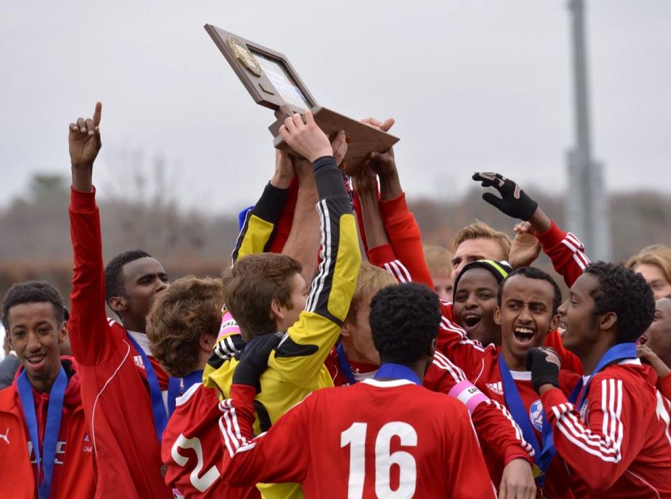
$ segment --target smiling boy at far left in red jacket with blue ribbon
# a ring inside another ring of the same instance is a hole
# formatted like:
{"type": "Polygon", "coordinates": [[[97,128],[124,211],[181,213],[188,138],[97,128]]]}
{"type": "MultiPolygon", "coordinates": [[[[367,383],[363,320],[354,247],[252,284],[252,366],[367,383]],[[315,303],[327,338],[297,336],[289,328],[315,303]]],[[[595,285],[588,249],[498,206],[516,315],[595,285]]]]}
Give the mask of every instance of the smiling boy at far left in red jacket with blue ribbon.
{"type": "Polygon", "coordinates": [[[3,299],[2,321],[21,362],[13,384],[0,391],[3,496],[92,497],[78,367],[60,356],[67,336],[61,296],[47,282],[14,284],[3,299]]]}

